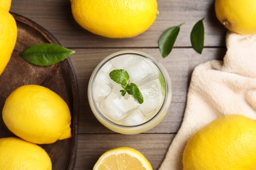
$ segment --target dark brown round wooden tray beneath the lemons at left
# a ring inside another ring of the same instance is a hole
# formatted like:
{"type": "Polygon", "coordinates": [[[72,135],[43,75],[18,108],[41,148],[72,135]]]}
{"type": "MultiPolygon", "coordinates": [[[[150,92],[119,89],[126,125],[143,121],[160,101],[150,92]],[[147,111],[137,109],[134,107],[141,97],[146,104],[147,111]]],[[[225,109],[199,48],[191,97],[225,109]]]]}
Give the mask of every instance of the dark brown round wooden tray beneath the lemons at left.
{"type": "MultiPolygon", "coordinates": [[[[0,76],[0,109],[9,94],[24,84],[39,84],[58,93],[68,103],[72,114],[72,138],[57,141],[53,144],[41,144],[51,157],[53,169],[73,169],[77,138],[77,81],[70,59],[47,67],[37,67],[22,59],[19,54],[33,44],[43,42],[60,43],[40,25],[12,13],[18,26],[18,39],[5,71],[0,76]]],[[[0,54],[1,55],[1,54],[0,54]]],[[[0,118],[0,137],[11,137],[14,134],[0,118]]]]}

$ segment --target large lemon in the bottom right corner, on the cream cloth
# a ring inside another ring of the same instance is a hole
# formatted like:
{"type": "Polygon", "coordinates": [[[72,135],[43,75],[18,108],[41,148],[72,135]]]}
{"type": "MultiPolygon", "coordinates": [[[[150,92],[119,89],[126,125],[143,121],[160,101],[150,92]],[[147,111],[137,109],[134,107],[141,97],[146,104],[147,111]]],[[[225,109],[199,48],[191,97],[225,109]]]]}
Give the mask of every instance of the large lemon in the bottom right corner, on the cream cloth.
{"type": "Polygon", "coordinates": [[[183,152],[184,169],[256,169],[256,121],[222,116],[196,132],[183,152]]]}

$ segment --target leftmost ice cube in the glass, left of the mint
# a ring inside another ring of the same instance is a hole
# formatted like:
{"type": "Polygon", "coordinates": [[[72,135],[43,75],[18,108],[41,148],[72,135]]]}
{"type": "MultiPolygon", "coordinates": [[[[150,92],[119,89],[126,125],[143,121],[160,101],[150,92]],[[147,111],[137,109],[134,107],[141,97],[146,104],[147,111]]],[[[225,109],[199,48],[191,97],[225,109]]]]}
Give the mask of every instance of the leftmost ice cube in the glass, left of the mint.
{"type": "Polygon", "coordinates": [[[111,92],[111,88],[108,84],[95,83],[93,85],[93,96],[95,97],[95,101],[99,102],[104,99],[111,92]]]}

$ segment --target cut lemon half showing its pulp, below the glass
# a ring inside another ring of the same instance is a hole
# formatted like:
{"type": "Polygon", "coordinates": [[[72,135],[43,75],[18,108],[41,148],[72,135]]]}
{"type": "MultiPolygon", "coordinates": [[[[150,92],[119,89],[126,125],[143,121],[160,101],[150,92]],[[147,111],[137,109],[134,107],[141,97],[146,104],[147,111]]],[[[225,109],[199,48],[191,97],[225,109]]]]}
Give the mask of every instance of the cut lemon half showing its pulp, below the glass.
{"type": "Polygon", "coordinates": [[[93,169],[149,170],[152,169],[152,166],[138,150],[129,147],[119,147],[102,154],[93,169]]]}

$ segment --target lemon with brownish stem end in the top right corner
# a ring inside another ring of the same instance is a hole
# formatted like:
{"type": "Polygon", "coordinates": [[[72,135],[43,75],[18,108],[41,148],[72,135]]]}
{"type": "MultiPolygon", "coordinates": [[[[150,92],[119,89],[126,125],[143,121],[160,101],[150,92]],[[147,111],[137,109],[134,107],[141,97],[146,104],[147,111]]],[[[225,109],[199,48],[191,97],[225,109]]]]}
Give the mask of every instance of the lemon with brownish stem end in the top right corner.
{"type": "Polygon", "coordinates": [[[256,3],[254,0],[215,0],[218,20],[238,34],[256,33],[256,3]]]}

